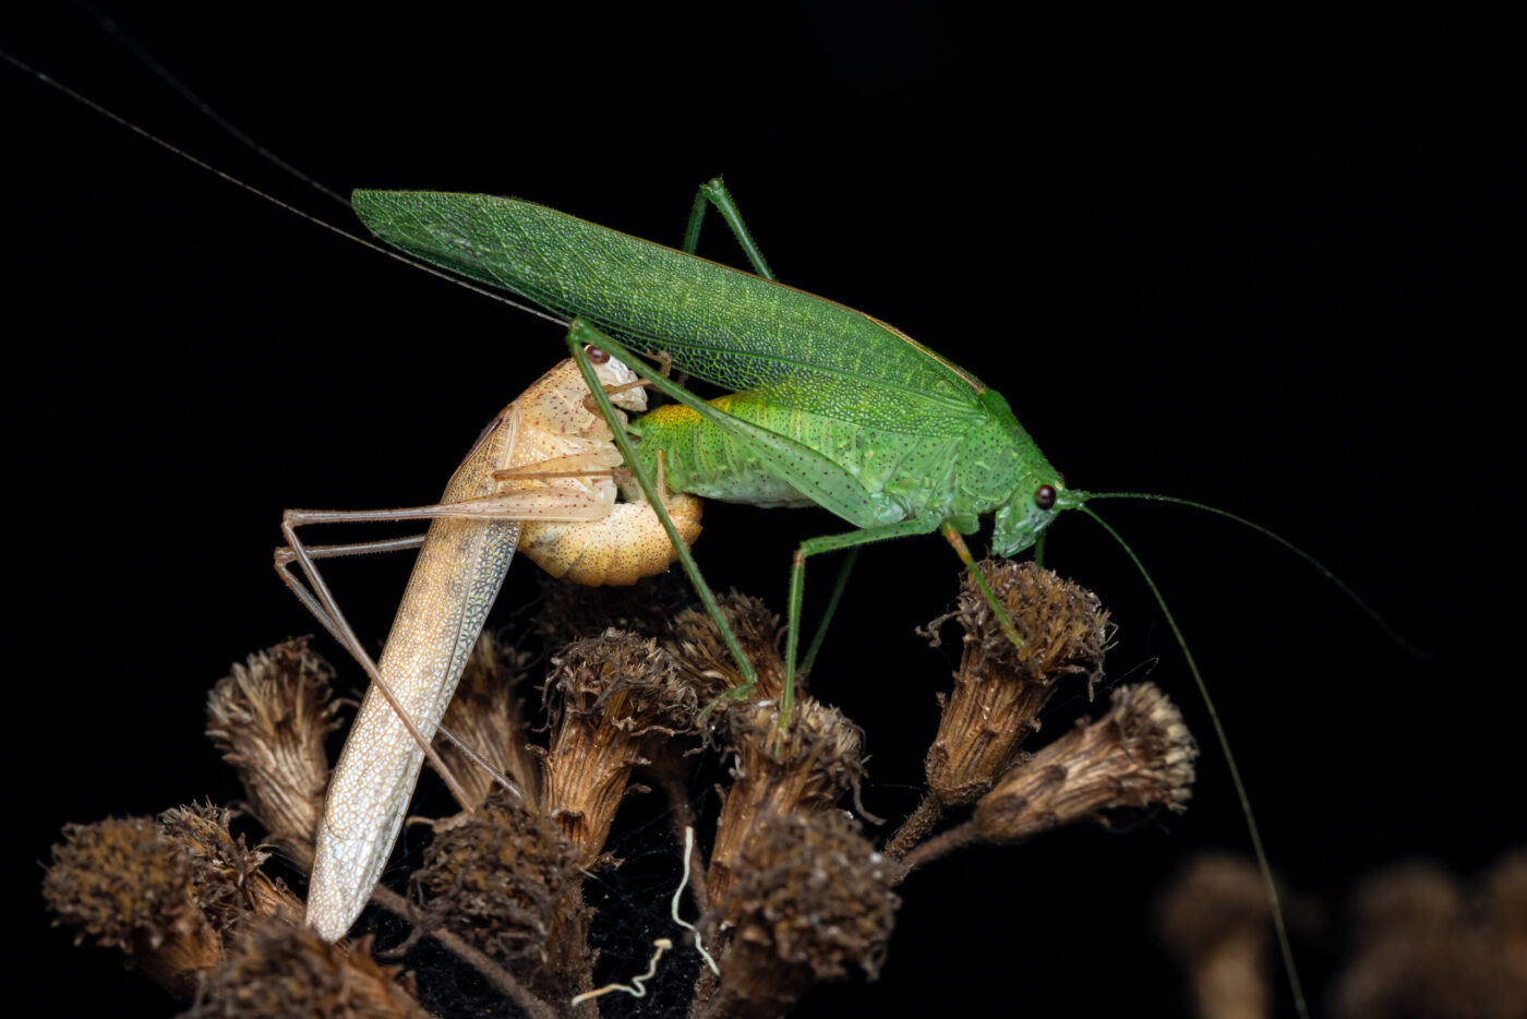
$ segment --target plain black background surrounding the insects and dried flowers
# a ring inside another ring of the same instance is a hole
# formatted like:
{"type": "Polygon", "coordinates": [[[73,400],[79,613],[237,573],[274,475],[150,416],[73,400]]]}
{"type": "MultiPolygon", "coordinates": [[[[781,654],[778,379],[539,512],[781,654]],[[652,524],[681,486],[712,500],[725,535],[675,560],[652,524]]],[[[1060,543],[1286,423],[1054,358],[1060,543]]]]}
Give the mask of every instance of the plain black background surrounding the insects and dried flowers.
{"type": "MultiPolygon", "coordinates": [[[[1506,26],[794,5],[111,14],[339,189],[516,194],[676,243],[695,185],[725,173],[783,281],[976,371],[1072,484],[1246,513],[1348,579],[1437,660],[1405,657],[1231,524],[1099,506],[1154,568],[1275,866],[1322,918],[1298,935],[1316,1004],[1358,877],[1412,856],[1472,874],[1521,845],[1509,364],[1527,223],[1506,26]]],[[[3,46],[350,223],[87,15],[8,21],[3,46]]],[[[328,235],[37,81],[5,70],[0,90],[5,842],[11,929],[35,955],[12,962],[8,996],[35,1014],[173,1014],[46,927],[35,862],[64,822],[235,797],[200,735],[205,689],[313,629],[269,568],[281,509],[432,500],[563,348],[554,327],[328,235]]],[[[719,226],[702,254],[739,258],[719,226]]],[[[718,587],[782,607],[796,542],[838,527],[713,506],[696,555],[718,587]]],[[[1205,744],[1193,808],[913,878],[884,978],[802,1014],[1182,1011],[1148,904],[1194,852],[1243,851],[1243,822],[1138,576],[1086,519],[1061,521],[1049,555],[1113,610],[1110,675],[1150,675],[1183,706],[1205,744]]],[[[405,573],[331,574],[363,636],[385,632],[405,573]]],[[[499,619],[534,597],[531,574],[513,571],[499,619]]],[[[828,576],[812,574],[818,596],[828,576]]],[[[815,677],[869,733],[881,814],[915,802],[951,651],[912,628],[956,581],[935,539],[867,550],[815,677]]],[[[1063,695],[1046,735],[1083,710],[1063,695]]]]}

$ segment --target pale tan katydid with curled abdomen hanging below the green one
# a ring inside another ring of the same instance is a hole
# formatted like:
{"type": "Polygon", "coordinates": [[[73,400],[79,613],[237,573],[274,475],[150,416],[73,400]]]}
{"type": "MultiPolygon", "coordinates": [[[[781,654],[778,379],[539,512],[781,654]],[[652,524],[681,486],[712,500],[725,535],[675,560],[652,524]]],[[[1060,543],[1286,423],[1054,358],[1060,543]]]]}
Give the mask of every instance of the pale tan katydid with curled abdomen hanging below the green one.
{"type": "MultiPolygon", "coordinates": [[[[611,400],[646,409],[646,393],[620,361],[591,351],[611,400]]],[[[324,626],[356,657],[371,687],[345,739],[319,823],[307,921],[337,940],[365,907],[392,852],[429,741],[455,692],[515,550],[553,576],[580,584],[632,584],[675,558],[644,501],[617,503],[620,452],[588,409],[588,387],[563,361],[504,408],[452,475],[440,503],[402,510],[289,510],[276,568],[324,626]],[[318,522],[431,519],[428,535],[362,545],[307,547],[296,527],[318,522]],[[380,663],[345,622],[313,559],[418,547],[380,663]],[[290,573],[298,562],[312,590],[290,573]]],[[[638,495],[632,495],[640,500],[638,495]]],[[[664,503],[686,544],[699,535],[698,498],[664,503]]]]}

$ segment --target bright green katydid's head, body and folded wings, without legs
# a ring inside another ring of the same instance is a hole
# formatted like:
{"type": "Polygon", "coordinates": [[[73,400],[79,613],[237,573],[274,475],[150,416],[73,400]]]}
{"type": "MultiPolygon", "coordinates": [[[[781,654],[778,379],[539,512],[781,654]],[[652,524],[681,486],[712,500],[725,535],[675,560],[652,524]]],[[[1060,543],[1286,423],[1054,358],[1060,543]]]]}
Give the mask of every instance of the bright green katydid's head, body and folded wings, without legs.
{"type": "Polygon", "coordinates": [[[725,428],[684,406],[632,422],[670,487],[757,506],[823,506],[855,527],[907,519],[1032,544],[1060,475],[970,371],[834,301],[553,209],[472,194],[357,191],[379,237],[429,263],[582,316],[731,394],[725,428]],[[751,428],[750,428],[751,426],[751,428]]]}

